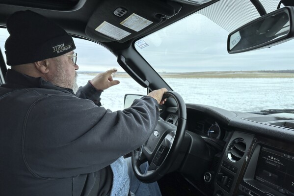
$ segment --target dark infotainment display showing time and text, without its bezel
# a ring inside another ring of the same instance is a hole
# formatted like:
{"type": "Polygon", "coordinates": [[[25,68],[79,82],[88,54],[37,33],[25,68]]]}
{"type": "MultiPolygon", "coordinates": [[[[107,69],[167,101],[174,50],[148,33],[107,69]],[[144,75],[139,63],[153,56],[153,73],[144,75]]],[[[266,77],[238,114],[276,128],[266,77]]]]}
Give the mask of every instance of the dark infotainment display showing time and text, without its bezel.
{"type": "Polygon", "coordinates": [[[255,180],[286,196],[294,196],[294,155],[262,147],[255,180]]]}

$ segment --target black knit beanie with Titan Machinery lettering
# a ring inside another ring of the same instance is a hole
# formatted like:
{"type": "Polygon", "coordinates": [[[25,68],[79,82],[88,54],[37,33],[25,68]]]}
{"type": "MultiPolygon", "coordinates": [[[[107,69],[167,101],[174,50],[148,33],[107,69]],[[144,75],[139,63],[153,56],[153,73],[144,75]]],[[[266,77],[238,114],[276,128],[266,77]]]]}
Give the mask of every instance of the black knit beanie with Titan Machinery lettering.
{"type": "Polygon", "coordinates": [[[63,28],[30,10],[13,13],[6,26],[10,34],[5,42],[7,65],[36,62],[76,49],[63,28]]]}

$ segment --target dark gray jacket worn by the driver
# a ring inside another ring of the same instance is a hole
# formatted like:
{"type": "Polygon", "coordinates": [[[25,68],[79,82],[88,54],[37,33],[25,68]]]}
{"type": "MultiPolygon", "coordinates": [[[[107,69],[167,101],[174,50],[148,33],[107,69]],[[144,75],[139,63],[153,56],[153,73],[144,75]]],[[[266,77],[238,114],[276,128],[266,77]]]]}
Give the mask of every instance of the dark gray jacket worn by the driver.
{"type": "Polygon", "coordinates": [[[0,87],[1,196],[88,195],[95,183],[105,183],[103,168],[141,146],[159,118],[151,97],[111,112],[95,105],[100,93],[90,84],[80,88],[82,99],[13,70],[6,82],[0,87]]]}

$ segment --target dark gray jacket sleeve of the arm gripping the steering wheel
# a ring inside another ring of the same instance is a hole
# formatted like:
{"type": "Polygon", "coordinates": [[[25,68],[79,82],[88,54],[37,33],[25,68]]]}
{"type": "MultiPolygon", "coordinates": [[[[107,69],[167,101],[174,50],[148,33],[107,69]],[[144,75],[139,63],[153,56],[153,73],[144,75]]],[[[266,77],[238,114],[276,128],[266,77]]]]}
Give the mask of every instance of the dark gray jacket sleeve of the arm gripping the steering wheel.
{"type": "Polygon", "coordinates": [[[42,178],[100,170],[149,138],[158,108],[157,101],[147,96],[128,109],[111,112],[74,95],[46,95],[27,115],[23,142],[27,168],[42,178]]]}

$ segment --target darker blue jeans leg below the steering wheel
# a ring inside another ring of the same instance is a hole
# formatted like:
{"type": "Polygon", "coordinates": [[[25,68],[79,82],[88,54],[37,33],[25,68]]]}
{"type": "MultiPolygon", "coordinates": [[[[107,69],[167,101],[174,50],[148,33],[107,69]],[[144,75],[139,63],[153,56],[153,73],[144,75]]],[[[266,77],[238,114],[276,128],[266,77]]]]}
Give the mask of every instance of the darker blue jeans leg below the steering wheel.
{"type": "MultiPolygon", "coordinates": [[[[134,193],[135,196],[161,196],[160,189],[157,182],[153,182],[150,184],[140,182],[134,175],[134,171],[132,168],[132,158],[131,157],[126,158],[125,161],[127,162],[127,165],[128,165],[131,195],[134,193]]],[[[148,167],[149,167],[148,162],[146,162],[140,166],[140,169],[141,171],[146,172],[148,167]]]]}

